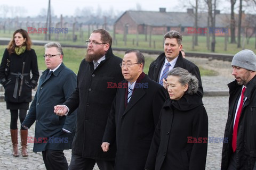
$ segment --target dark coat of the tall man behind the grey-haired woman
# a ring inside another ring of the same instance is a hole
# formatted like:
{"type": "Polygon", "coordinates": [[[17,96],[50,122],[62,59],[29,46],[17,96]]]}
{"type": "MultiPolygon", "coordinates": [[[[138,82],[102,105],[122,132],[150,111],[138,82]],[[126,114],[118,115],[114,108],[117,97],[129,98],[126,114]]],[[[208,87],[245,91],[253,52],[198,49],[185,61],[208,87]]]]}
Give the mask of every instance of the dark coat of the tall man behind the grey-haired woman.
{"type": "MultiPolygon", "coordinates": [[[[160,73],[164,65],[165,58],[166,58],[165,54],[162,53],[156,58],[155,61],[153,61],[150,64],[149,70],[148,70],[148,77],[150,79],[156,82],[159,81],[160,73]]],[[[186,69],[189,73],[191,73],[192,75],[195,75],[195,77],[199,81],[197,94],[203,97],[204,91],[203,91],[201,75],[198,67],[194,63],[188,61],[186,58],[183,58],[181,52],[179,53],[176,64],[174,65],[174,68],[176,67],[181,67],[182,69],[186,69]]]]}

